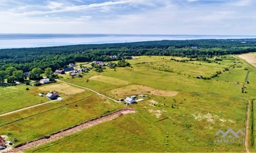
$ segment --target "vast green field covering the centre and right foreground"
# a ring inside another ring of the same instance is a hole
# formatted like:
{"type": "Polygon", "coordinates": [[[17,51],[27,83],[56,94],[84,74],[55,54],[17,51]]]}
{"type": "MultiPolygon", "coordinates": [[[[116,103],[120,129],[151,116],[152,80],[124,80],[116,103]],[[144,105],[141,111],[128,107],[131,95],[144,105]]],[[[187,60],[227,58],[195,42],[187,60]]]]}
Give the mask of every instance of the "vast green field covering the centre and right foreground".
{"type": "MultiPolygon", "coordinates": [[[[107,68],[100,73],[127,81],[129,85],[87,81],[99,75],[93,70],[82,78],[63,77],[63,81],[113,98],[121,97],[111,91],[131,85],[178,91],[178,94],[159,96],[145,93],[144,101],[130,105],[137,110],[135,114],[124,115],[28,151],[243,152],[242,143],[215,143],[215,134],[229,128],[243,131],[247,104],[243,98],[255,98],[256,69],[233,56],[226,56],[218,63],[183,63],[170,58],[142,56],[129,60],[131,67],[107,68]],[[228,70],[224,71],[226,67],[228,70]],[[211,80],[196,78],[198,74],[209,77],[216,71],[222,73],[211,80]],[[245,82],[248,71],[249,84],[245,82]],[[247,87],[247,93],[242,93],[243,85],[247,87]]],[[[129,95],[128,91],[125,92],[129,95]]],[[[124,107],[124,104],[119,107],[124,107]]],[[[251,150],[255,150],[254,147],[251,150]]]]}

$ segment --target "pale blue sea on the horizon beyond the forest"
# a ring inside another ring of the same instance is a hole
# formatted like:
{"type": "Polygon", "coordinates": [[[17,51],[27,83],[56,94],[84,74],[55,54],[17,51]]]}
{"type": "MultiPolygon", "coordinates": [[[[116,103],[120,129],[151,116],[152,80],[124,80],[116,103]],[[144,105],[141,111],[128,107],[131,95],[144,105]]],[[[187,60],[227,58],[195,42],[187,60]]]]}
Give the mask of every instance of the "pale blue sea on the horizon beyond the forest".
{"type": "Polygon", "coordinates": [[[154,40],[250,39],[239,35],[0,34],[0,49],[154,40]]]}

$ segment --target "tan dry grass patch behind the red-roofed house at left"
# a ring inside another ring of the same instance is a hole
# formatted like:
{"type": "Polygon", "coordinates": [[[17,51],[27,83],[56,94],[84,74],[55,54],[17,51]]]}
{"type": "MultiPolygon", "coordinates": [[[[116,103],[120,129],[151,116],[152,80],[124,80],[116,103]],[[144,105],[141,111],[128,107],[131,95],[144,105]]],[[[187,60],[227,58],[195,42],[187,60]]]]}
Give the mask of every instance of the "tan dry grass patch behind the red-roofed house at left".
{"type": "Polygon", "coordinates": [[[65,83],[61,83],[61,84],[54,84],[54,85],[47,85],[47,86],[41,86],[39,87],[39,90],[42,91],[57,91],[57,92],[61,92],[63,94],[77,94],[77,93],[81,93],[83,91],[85,91],[84,89],[80,89],[65,83]]]}

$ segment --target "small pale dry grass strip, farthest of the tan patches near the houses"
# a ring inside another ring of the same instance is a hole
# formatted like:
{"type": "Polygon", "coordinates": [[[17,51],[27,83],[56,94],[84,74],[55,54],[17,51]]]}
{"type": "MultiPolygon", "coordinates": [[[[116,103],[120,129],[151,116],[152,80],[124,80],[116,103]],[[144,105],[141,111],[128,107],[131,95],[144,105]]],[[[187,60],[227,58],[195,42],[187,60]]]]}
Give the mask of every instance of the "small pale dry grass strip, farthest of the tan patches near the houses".
{"type": "Polygon", "coordinates": [[[105,77],[102,75],[94,75],[93,77],[89,78],[89,80],[100,81],[100,82],[109,83],[109,84],[113,84],[113,85],[129,84],[129,82],[127,82],[127,81],[123,81],[123,80],[115,79],[115,78],[111,78],[111,77],[105,77]]]}

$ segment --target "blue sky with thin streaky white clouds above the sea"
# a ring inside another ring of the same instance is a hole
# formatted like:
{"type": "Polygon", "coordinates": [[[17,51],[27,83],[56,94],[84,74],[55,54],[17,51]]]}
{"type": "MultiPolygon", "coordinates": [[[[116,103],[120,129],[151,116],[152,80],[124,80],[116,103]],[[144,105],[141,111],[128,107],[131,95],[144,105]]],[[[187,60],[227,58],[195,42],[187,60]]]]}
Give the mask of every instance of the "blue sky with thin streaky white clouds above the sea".
{"type": "Polygon", "coordinates": [[[255,0],[0,0],[0,33],[256,35],[255,0]]]}

